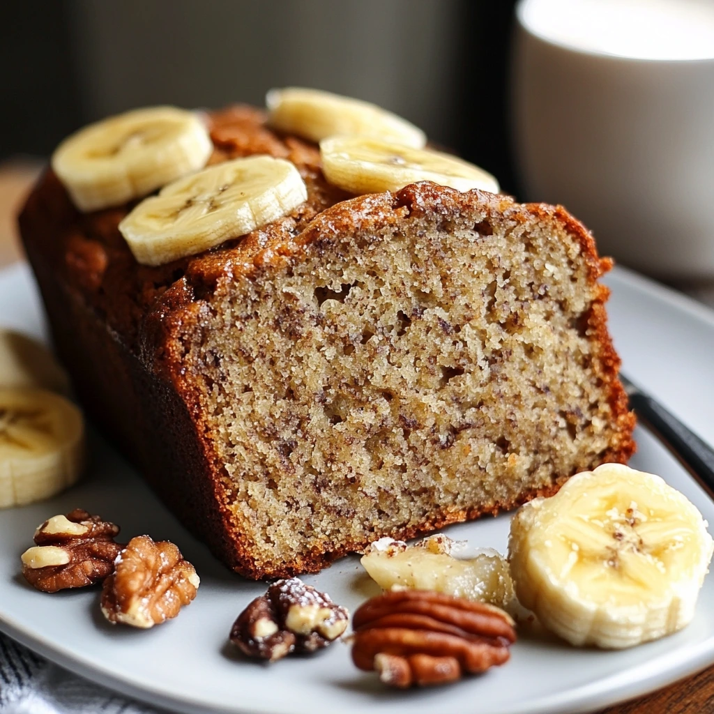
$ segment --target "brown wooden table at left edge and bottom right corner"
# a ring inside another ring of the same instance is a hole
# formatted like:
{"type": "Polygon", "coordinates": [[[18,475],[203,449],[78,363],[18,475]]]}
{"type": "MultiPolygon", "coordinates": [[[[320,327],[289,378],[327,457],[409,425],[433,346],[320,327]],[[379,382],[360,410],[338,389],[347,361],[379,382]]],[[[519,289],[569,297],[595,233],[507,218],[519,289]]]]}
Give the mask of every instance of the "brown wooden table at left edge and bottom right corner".
{"type": "MultiPolygon", "coordinates": [[[[40,170],[39,164],[28,161],[0,164],[0,267],[23,259],[16,236],[15,215],[40,170]]],[[[714,667],[645,698],[610,707],[598,714],[710,713],[714,714],[714,667]]]]}

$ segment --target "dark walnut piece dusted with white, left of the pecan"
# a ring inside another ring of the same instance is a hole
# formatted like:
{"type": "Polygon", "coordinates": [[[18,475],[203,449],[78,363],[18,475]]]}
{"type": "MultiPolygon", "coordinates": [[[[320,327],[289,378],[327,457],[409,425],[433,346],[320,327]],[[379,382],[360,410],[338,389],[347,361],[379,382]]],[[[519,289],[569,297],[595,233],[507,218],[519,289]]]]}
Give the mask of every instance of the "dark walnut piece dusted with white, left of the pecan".
{"type": "Polygon", "coordinates": [[[299,578],[278,580],[233,623],[231,642],[248,657],[274,662],[292,652],[314,652],[336,640],[349,614],[299,578]]]}

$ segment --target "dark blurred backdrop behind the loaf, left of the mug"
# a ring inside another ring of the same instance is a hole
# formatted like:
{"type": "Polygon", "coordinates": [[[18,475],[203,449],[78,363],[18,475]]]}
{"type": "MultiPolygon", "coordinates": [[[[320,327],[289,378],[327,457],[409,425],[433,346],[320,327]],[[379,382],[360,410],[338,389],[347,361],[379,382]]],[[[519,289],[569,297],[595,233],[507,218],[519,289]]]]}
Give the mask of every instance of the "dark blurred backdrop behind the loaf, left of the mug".
{"type": "Polygon", "coordinates": [[[30,0],[0,10],[0,157],[44,156],[146,104],[263,104],[272,86],[373,101],[514,191],[506,59],[515,0],[30,0]]]}

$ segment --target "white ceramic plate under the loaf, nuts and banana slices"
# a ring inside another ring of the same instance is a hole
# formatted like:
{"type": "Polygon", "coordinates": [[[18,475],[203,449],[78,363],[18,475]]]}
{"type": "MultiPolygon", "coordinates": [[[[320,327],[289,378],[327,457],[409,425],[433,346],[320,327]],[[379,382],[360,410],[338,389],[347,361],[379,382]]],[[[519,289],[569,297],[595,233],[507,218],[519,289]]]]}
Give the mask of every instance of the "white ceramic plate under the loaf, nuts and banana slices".
{"type": "MultiPolygon", "coordinates": [[[[610,326],[625,371],[701,436],[714,441],[714,313],[623,270],[610,326]]],[[[0,325],[44,336],[41,306],[24,266],[0,273],[0,325]]],[[[655,471],[714,523],[714,504],[648,433],[637,434],[633,466],[655,471]]],[[[508,516],[448,528],[472,545],[504,550],[508,516]]],[[[354,610],[376,588],[356,557],[305,578],[354,610]]],[[[576,650],[521,635],[511,662],[451,687],[398,693],[356,670],[336,643],[312,658],[274,665],[243,660],[227,643],[236,615],[265,585],[229,573],[176,522],[136,472],[99,437],[80,486],[52,501],[0,511],[0,630],[76,673],[127,695],[182,712],[271,714],[556,714],[600,708],[659,688],[714,663],[714,573],[694,622],[682,633],[624,652],[576,650]],[[201,575],[198,598],[176,620],[141,631],[111,627],[96,590],[38,593],[19,575],[35,526],[81,506],[119,523],[124,537],[174,540],[201,575]]]]}

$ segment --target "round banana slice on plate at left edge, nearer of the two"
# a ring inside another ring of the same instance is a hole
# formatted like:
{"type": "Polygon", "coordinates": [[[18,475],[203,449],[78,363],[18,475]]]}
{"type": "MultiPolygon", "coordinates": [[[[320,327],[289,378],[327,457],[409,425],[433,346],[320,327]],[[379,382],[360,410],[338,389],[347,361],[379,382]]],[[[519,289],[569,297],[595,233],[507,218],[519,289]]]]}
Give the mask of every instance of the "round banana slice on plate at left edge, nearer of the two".
{"type": "Polygon", "coordinates": [[[42,389],[0,389],[0,508],[54,496],[83,463],[84,421],[74,404],[42,389]]]}

